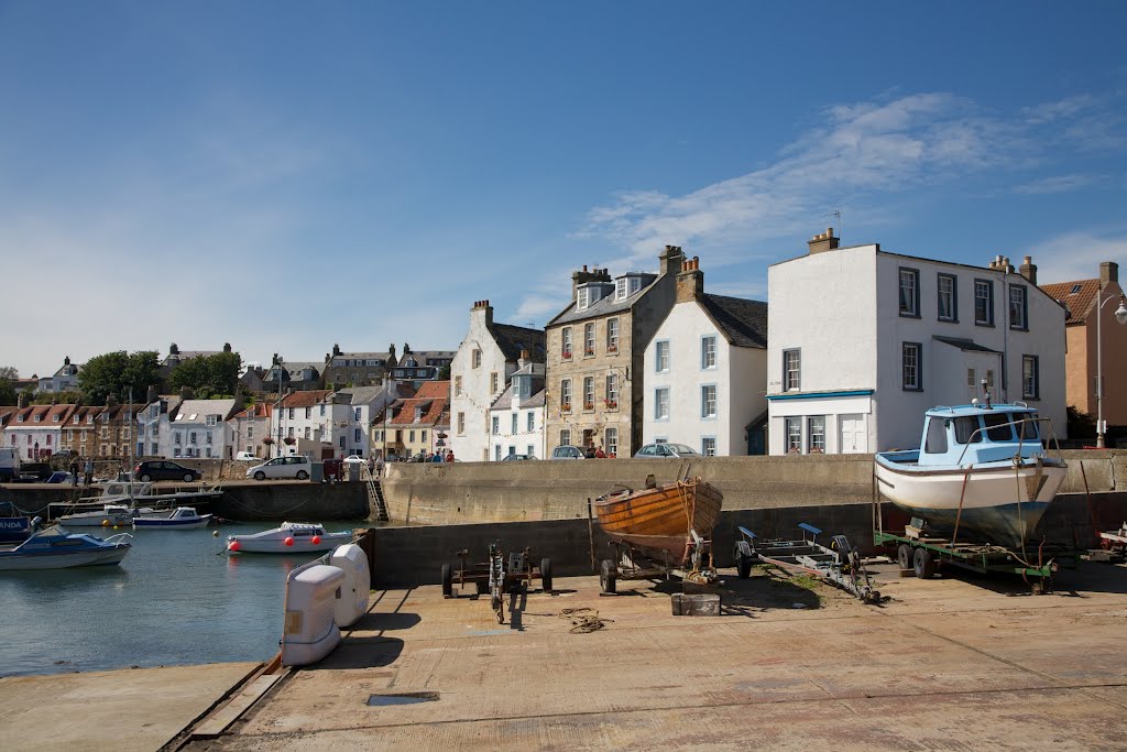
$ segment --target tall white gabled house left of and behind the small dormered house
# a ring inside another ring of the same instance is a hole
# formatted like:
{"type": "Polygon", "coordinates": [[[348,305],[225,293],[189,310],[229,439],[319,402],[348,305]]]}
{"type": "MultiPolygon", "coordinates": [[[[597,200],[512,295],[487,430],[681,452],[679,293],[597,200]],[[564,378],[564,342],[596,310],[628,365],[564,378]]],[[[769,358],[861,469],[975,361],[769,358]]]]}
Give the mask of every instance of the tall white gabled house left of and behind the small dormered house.
{"type": "Polygon", "coordinates": [[[543,363],[544,333],[494,324],[489,301],[473,303],[469,331],[450,365],[450,446],[458,459],[489,459],[489,409],[520,368],[522,352],[530,362],[543,363]]]}

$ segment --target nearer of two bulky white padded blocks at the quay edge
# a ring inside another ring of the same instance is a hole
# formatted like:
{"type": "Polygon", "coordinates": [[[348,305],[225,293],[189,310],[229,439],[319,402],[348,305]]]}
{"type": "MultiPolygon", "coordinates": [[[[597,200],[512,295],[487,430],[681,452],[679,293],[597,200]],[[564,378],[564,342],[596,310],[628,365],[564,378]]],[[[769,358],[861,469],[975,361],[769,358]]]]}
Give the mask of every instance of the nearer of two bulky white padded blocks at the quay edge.
{"type": "Polygon", "coordinates": [[[334,614],[344,581],[343,569],[317,563],[300,566],[286,577],[284,665],[317,663],[340,644],[334,614]]]}

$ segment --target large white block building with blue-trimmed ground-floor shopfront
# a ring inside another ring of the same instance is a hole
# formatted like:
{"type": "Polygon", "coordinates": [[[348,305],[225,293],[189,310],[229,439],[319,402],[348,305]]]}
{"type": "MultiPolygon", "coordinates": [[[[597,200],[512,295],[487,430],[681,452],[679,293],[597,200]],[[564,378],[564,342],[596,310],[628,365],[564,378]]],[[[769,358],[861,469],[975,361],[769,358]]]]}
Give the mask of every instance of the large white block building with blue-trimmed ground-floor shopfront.
{"type": "Polygon", "coordinates": [[[767,272],[772,454],[916,446],[923,414],[1024,400],[1067,430],[1064,309],[996,257],[987,267],[838,248],[833,230],[767,272]]]}

